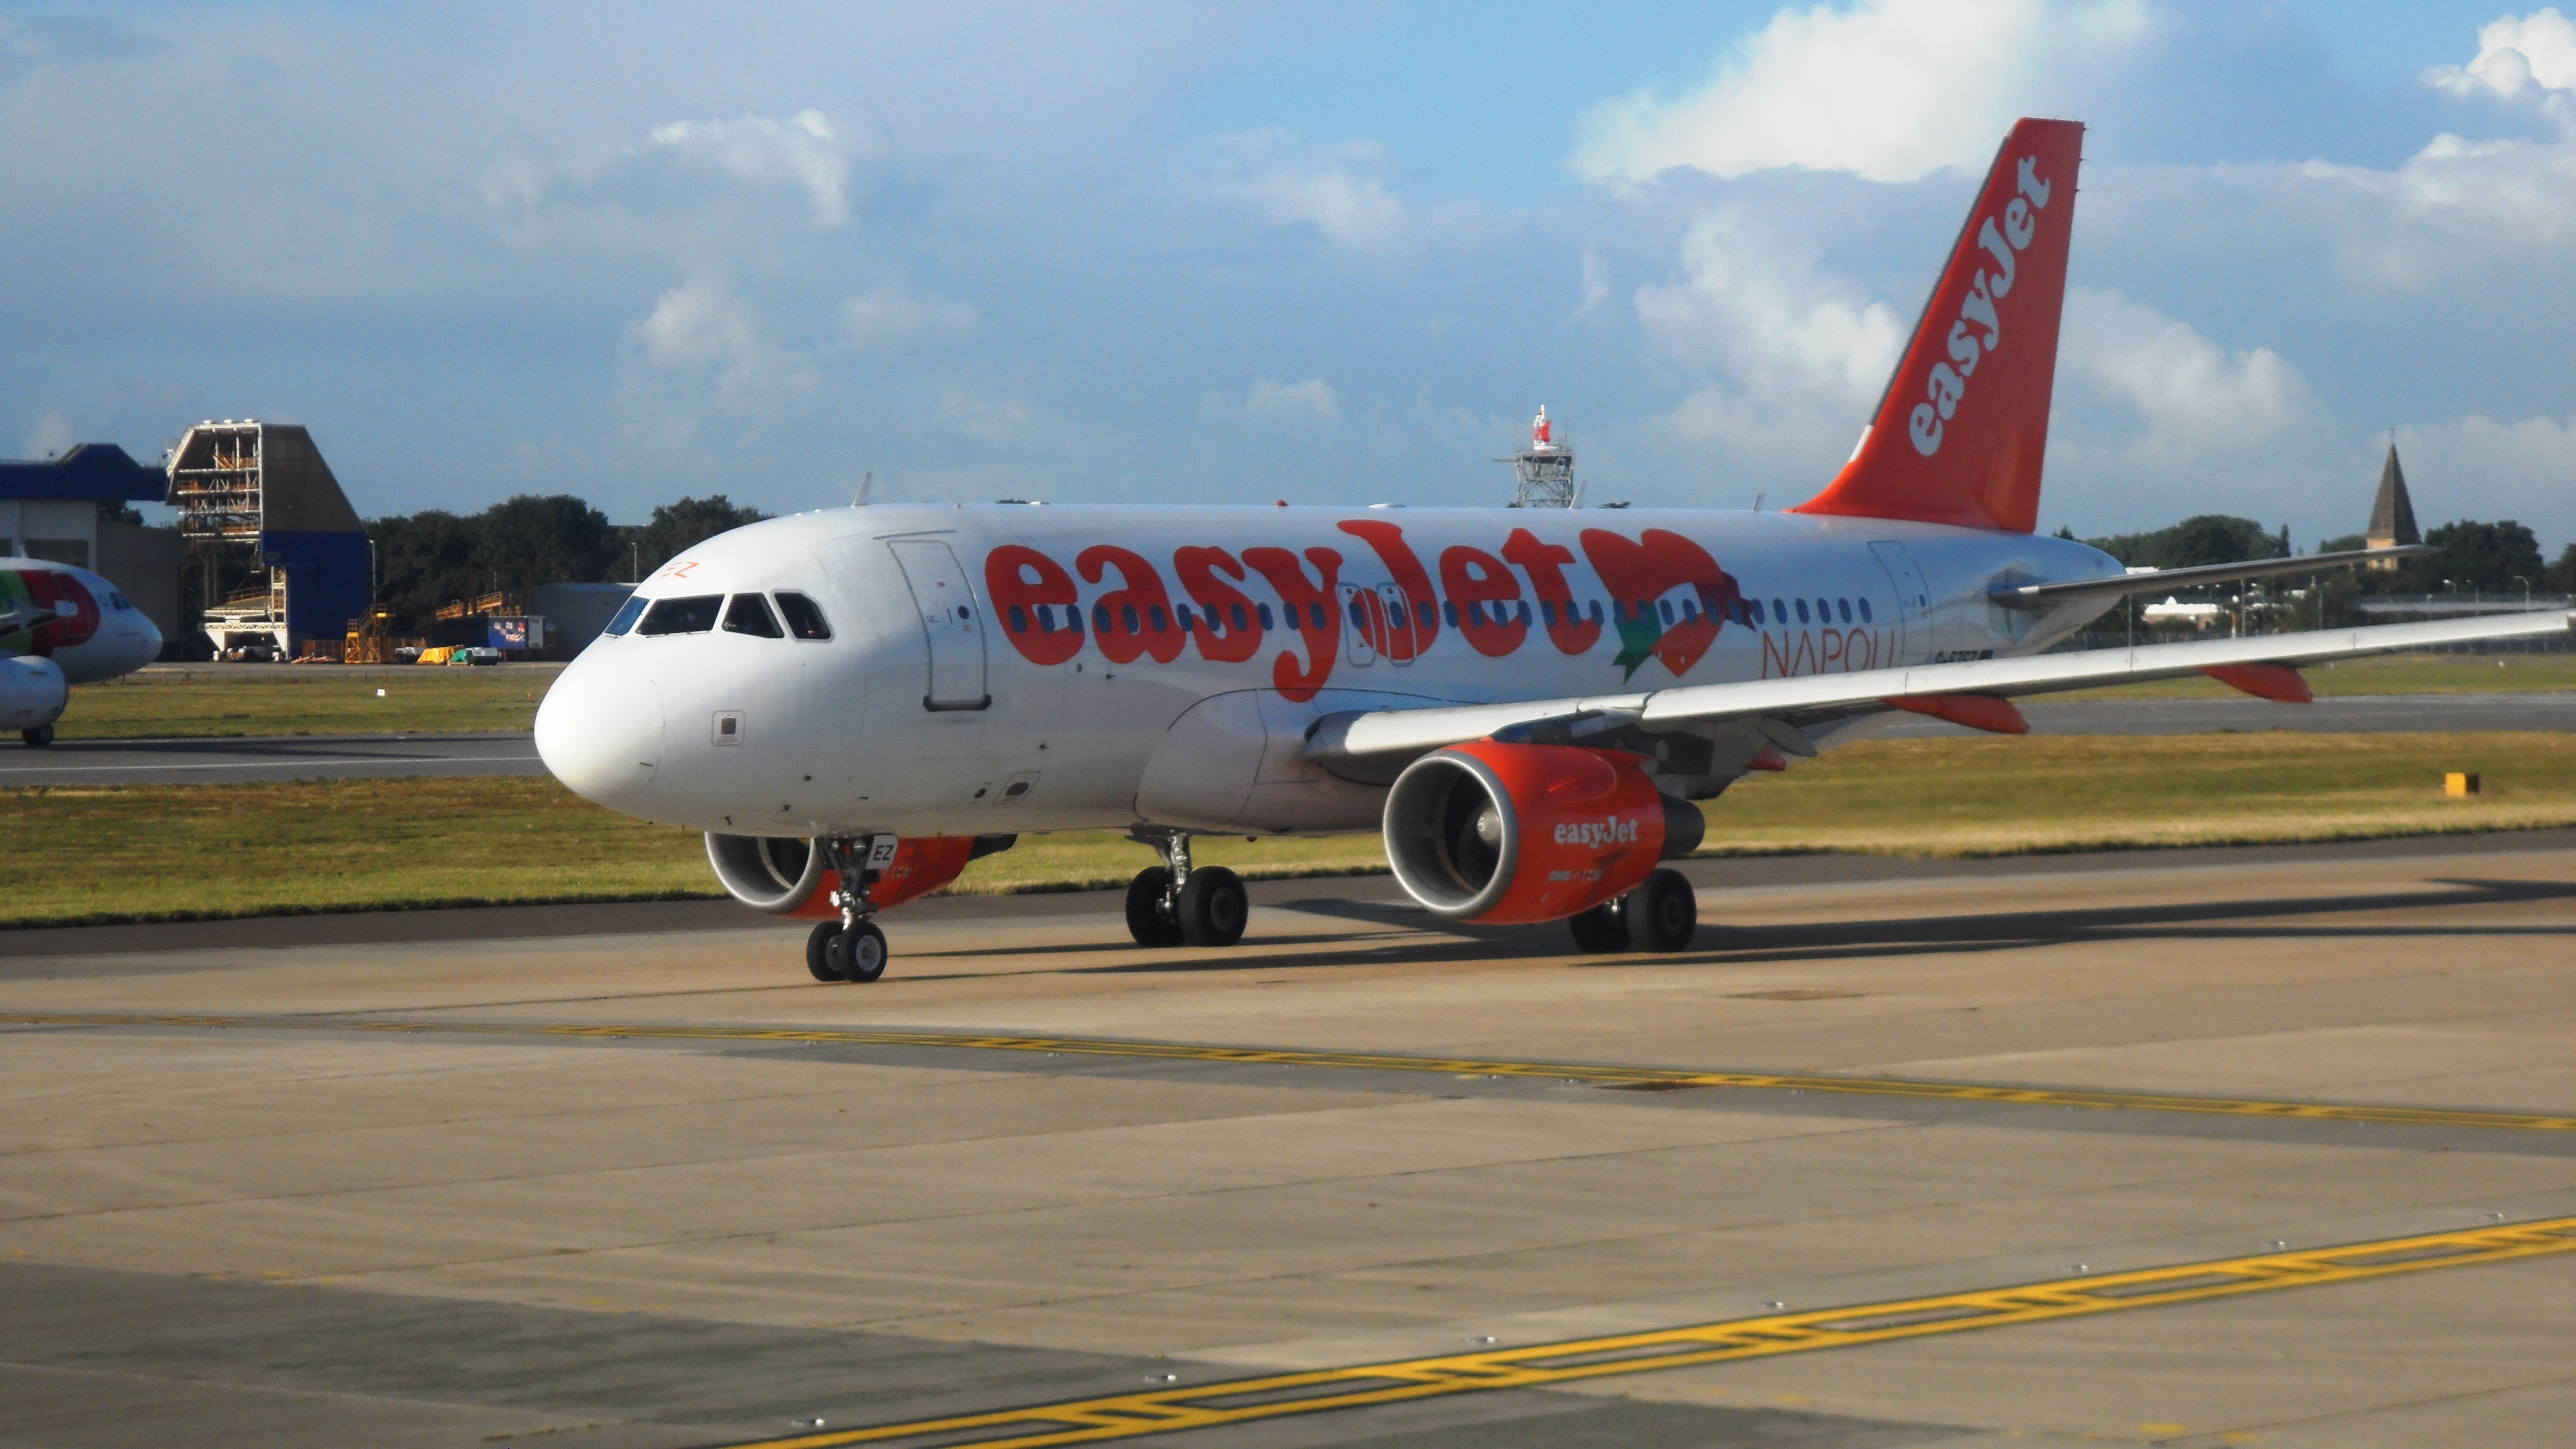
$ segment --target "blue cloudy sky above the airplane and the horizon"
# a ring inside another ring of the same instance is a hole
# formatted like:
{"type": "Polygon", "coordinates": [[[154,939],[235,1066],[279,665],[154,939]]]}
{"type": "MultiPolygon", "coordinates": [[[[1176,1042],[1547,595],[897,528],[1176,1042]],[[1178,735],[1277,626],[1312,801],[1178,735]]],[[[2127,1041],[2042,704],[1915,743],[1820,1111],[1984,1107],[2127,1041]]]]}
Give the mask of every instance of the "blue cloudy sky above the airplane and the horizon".
{"type": "Polygon", "coordinates": [[[0,446],[567,490],[1770,505],[2012,116],[2089,124],[2043,526],[2576,539],[2576,26],[2442,3],[0,5],[0,446]]]}

